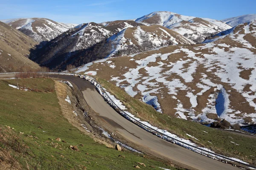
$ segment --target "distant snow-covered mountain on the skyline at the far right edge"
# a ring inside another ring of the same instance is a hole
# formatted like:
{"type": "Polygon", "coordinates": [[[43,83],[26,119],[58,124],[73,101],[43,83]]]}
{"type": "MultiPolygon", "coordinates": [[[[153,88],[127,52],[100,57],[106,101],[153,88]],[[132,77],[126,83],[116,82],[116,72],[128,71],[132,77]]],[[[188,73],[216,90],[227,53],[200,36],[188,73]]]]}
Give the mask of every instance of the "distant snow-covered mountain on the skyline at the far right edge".
{"type": "Polygon", "coordinates": [[[243,23],[250,23],[256,20],[256,14],[241,15],[239,17],[232,17],[221,20],[222,22],[234,27],[243,23]]]}

